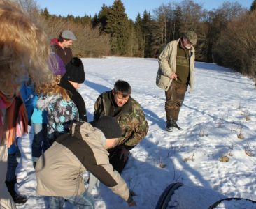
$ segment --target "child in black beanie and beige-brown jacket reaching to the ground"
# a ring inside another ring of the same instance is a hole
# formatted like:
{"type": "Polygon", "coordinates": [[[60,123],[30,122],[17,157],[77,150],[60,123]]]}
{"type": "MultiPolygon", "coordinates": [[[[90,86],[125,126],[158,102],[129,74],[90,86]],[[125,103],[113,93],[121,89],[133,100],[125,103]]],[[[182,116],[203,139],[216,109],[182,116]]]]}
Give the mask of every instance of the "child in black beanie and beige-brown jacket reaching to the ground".
{"type": "Polygon", "coordinates": [[[120,174],[109,163],[109,148],[121,137],[115,118],[102,116],[94,127],[77,122],[70,132],[56,139],[36,164],[37,192],[50,196],[49,208],[62,208],[69,201],[78,208],[94,208],[94,199],[85,191],[83,172],[90,171],[101,183],[125,199],[136,203],[120,174]]]}

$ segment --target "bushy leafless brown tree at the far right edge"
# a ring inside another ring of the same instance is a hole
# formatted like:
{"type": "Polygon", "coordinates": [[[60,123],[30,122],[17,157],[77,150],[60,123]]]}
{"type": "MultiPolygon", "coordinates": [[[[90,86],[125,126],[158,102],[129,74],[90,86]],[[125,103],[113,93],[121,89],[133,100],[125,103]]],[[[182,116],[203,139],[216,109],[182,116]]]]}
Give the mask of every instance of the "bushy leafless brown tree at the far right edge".
{"type": "Polygon", "coordinates": [[[222,31],[215,52],[221,65],[255,77],[256,75],[256,11],[235,18],[222,31]]]}

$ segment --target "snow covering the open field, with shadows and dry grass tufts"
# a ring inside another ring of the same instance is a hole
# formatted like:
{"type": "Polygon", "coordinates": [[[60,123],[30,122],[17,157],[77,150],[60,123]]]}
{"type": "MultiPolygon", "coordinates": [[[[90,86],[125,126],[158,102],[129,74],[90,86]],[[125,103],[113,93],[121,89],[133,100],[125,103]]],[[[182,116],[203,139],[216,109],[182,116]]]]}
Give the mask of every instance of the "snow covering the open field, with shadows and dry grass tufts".
{"type": "MultiPolygon", "coordinates": [[[[173,182],[190,187],[191,192],[182,199],[192,198],[194,187],[195,192],[202,191],[199,196],[204,203],[210,203],[216,193],[256,201],[256,90],[251,79],[229,68],[197,62],[195,89],[187,91],[178,119],[184,130],[166,132],[164,91],[155,85],[157,59],[88,58],[83,63],[86,81],[79,91],[89,121],[99,94],[111,90],[118,79],[131,84],[131,96],[141,104],[148,120],[148,135],[131,150],[122,173],[136,194],[137,208],[155,208],[159,196],[173,182]]],[[[47,199],[36,194],[32,139],[31,129],[19,144],[22,160],[17,168],[17,189],[29,200],[17,208],[47,207],[47,199]]],[[[96,208],[128,208],[102,184],[92,194],[96,208]]],[[[184,207],[190,208],[189,204],[184,207]]],[[[73,207],[67,203],[65,208],[73,207]]]]}

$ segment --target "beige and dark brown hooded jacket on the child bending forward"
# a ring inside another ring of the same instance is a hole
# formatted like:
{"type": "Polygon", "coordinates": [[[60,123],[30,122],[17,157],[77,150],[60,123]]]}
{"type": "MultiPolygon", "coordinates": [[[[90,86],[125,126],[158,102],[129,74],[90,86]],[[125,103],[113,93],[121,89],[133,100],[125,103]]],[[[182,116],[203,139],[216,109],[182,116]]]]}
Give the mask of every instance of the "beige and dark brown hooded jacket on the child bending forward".
{"type": "Polygon", "coordinates": [[[38,194],[77,196],[85,192],[83,172],[88,170],[115,194],[130,201],[125,181],[108,160],[104,134],[90,123],[73,123],[36,164],[38,194]]]}

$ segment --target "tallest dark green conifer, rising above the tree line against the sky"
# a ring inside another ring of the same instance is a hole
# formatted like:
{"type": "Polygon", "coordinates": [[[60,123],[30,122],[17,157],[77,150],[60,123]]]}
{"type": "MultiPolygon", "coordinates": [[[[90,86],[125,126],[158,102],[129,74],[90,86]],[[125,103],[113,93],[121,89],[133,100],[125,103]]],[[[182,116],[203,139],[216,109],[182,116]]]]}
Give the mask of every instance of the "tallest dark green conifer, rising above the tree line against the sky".
{"type": "Polygon", "coordinates": [[[106,33],[111,35],[111,52],[124,55],[128,49],[129,20],[121,0],[115,0],[108,15],[106,33]]]}

